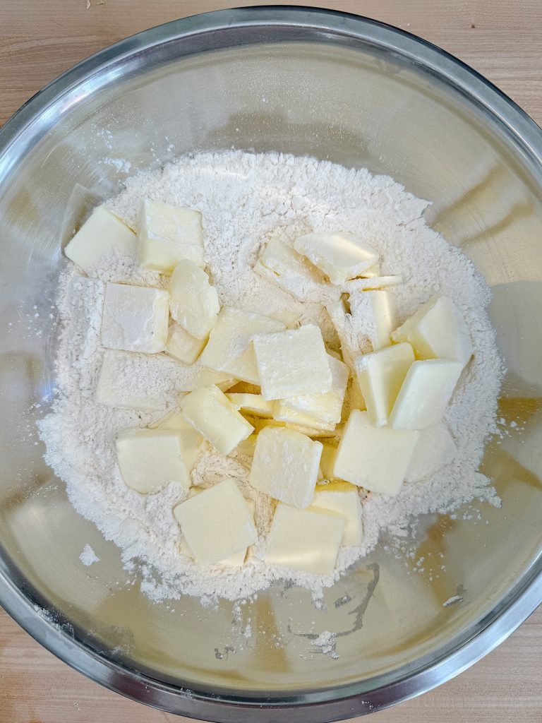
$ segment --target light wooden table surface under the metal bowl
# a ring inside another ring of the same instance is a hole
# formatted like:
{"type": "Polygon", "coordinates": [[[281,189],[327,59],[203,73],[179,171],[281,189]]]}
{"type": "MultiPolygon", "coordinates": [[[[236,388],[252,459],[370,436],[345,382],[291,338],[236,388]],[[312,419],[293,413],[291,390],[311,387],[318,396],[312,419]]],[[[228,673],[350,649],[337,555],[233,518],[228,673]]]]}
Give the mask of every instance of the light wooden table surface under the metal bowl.
{"type": "MultiPolygon", "coordinates": [[[[43,85],[152,25],[264,2],[0,0],[0,125],[43,85]]],[[[279,3],[275,3],[279,4],[279,3]]],[[[291,4],[304,4],[292,1],[291,4]]],[[[476,68],[542,124],[540,0],[306,0],[402,27],[476,68]]],[[[463,675],[375,723],[542,722],[542,608],[463,675]]],[[[0,723],[187,721],[101,688],[54,658],[0,609],[0,723]]],[[[358,719],[361,720],[361,719],[358,719]]]]}

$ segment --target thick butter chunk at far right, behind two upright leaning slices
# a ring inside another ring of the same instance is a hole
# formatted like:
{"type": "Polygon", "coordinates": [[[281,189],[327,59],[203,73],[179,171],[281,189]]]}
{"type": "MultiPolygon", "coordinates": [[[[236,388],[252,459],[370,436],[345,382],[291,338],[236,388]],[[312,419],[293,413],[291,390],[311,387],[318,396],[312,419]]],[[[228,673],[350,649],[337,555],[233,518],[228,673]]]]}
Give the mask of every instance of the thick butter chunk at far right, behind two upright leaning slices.
{"type": "Polygon", "coordinates": [[[460,309],[447,296],[433,296],[392,333],[408,341],[417,359],[455,359],[463,366],[473,354],[470,332],[460,309]]]}

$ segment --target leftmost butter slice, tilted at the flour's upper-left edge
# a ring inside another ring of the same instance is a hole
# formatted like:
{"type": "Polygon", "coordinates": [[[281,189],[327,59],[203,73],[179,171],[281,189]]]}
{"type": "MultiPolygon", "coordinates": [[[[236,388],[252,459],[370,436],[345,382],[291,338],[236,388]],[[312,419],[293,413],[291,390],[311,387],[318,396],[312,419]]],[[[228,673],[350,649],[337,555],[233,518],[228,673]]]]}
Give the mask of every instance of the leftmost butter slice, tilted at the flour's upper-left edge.
{"type": "Polygon", "coordinates": [[[89,271],[114,251],[134,255],[136,242],[132,228],[105,206],[98,206],[69,241],[64,253],[77,266],[89,271]]]}

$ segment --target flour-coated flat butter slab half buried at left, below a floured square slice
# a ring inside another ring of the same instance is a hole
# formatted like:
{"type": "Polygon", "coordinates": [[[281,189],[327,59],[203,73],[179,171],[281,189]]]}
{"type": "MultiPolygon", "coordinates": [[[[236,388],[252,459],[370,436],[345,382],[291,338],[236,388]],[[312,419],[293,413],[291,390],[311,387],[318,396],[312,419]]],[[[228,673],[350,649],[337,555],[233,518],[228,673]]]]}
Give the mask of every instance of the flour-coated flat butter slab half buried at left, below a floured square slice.
{"type": "Polygon", "coordinates": [[[103,355],[96,401],[141,411],[161,411],[181,398],[178,363],[167,356],[107,349],[103,355]]]}

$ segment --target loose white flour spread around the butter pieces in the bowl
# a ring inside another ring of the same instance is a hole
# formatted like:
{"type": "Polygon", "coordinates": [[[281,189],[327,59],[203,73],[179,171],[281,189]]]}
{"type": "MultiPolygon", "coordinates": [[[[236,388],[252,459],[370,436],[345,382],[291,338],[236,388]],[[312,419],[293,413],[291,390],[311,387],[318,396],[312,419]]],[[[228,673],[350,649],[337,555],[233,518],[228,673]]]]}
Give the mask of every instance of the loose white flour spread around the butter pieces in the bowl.
{"type": "MultiPolygon", "coordinates": [[[[454,510],[475,498],[499,503],[489,480],[476,471],[483,442],[496,428],[502,375],[485,311],[489,290],[467,257],[427,228],[422,218],[426,202],[406,193],[392,179],[374,177],[368,171],[311,158],[238,152],[181,158],[162,173],[137,176],[127,181],[126,190],[109,205],[134,226],[145,196],[202,211],[208,268],[221,304],[266,315],[285,309],[297,312],[303,322],[318,322],[324,338],[334,343],[335,333],[320,304],[296,301],[252,270],[262,241],[280,236],[291,243],[296,236],[318,229],[360,234],[379,251],[383,274],[403,275],[403,285],[394,288],[400,321],[436,292],[446,294],[463,310],[474,357],[446,417],[459,455],[430,479],[406,483],[397,497],[364,495],[364,542],[359,548],[341,549],[336,578],[373,549],[383,531],[396,537],[408,535],[413,515],[454,510]]],[[[94,401],[103,357],[103,281],[153,286],[165,282],[158,273],[135,269],[133,260],[126,258],[113,257],[102,266],[90,279],[68,270],[61,284],[58,391],[53,413],[40,422],[46,460],[66,483],[79,513],[122,549],[127,568],[139,570],[142,590],[153,599],[181,593],[207,601],[217,595],[249,596],[281,577],[280,571],[263,561],[272,503],[250,487],[249,459],[236,452],[224,457],[209,448],[192,472],[194,484],[204,487],[231,476],[256,502],[259,542],[242,570],[199,568],[179,553],[172,508],[181,497],[175,484],[157,495],[143,496],[121,479],[116,435],[126,427],[145,427],[160,414],[113,409],[94,401]]],[[[168,375],[153,379],[155,368],[150,364],[140,373],[157,388],[162,385],[167,396],[171,379],[168,375]]],[[[291,579],[314,591],[332,583],[302,573],[291,579]]]]}

